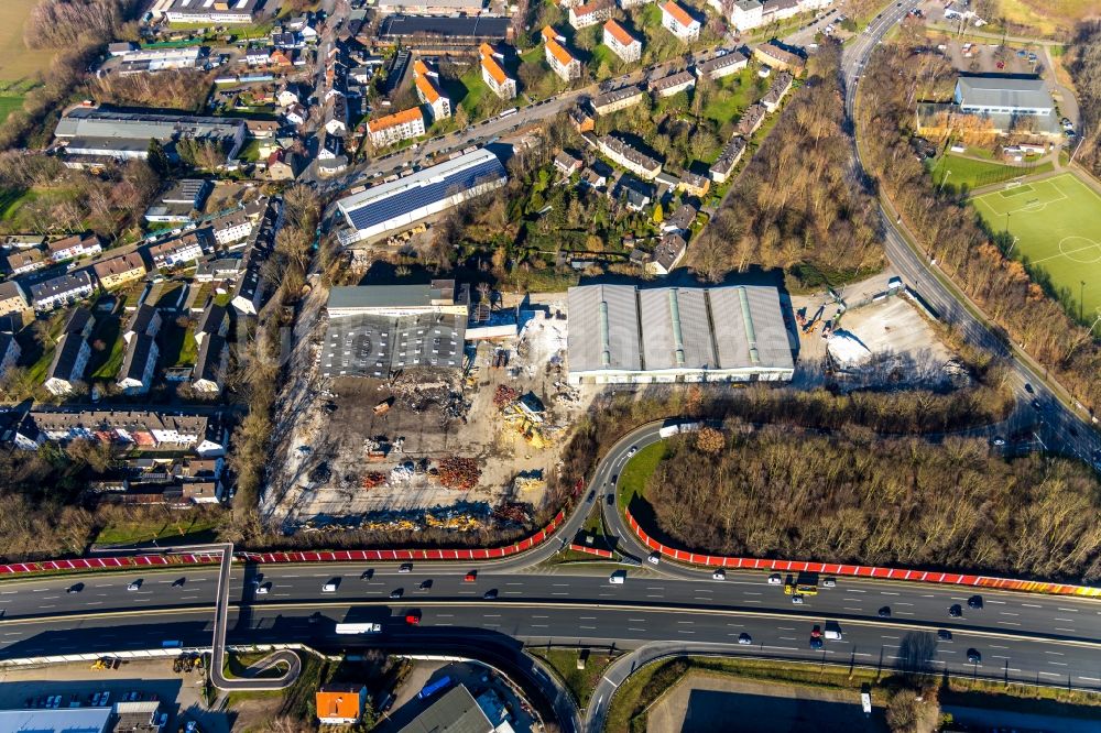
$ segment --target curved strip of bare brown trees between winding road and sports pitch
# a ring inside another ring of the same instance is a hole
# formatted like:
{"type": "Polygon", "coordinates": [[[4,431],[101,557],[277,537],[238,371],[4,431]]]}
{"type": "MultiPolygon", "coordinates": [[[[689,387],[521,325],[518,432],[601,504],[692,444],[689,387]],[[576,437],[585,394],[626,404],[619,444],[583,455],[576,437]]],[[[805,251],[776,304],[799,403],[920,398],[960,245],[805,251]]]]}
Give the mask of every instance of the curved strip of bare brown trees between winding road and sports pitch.
{"type": "Polygon", "coordinates": [[[860,81],[857,105],[864,165],[903,212],[930,258],[1004,329],[1088,407],[1101,405],[1101,347],[1061,305],[1005,256],[1012,238],[988,234],[967,205],[967,193],[935,187],[909,139],[914,103],[953,75],[931,54],[924,29],[901,26],[895,43],[882,46],[860,81]]]}

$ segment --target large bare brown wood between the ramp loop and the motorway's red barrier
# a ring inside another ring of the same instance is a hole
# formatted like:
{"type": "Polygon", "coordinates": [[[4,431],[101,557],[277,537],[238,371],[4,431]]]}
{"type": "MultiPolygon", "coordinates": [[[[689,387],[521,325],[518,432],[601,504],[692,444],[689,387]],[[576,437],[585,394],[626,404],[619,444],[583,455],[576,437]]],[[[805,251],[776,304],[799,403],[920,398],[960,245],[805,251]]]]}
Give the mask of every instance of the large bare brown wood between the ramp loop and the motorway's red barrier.
{"type": "Polygon", "coordinates": [[[1101,485],[1084,466],[1005,461],[983,439],[882,439],[728,423],[721,456],[695,437],[646,486],[658,526],[699,551],[1101,578],[1101,485]]]}

